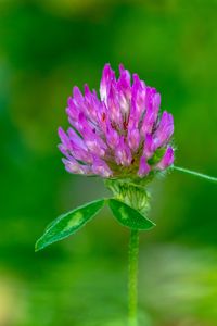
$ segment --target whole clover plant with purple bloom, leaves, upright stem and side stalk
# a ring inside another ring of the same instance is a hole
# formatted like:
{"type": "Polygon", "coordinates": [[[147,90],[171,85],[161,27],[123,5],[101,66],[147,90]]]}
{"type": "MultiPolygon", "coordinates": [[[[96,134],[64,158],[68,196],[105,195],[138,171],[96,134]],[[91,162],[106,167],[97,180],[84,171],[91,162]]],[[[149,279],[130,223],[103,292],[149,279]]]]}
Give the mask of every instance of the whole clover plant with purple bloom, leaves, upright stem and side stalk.
{"type": "Polygon", "coordinates": [[[152,177],[169,166],[175,171],[217,183],[216,177],[174,165],[174,118],[159,113],[161,96],[123,65],[119,77],[105,64],[97,92],[74,87],[66,109],[71,127],[59,128],[63,163],[69,173],[100,175],[112,197],[101,198],[60,215],[36,242],[36,251],[79,230],[105,205],[115,220],[130,229],[128,325],[138,326],[139,233],[155,223],[148,218],[152,177]]]}

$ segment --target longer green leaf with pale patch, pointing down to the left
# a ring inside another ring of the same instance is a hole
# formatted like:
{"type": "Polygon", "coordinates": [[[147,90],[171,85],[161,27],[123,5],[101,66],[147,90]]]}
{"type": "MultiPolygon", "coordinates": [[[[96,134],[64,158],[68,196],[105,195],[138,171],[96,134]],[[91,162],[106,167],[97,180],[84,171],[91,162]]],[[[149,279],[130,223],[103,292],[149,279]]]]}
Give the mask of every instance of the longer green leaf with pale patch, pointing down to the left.
{"type": "Polygon", "coordinates": [[[49,224],[36,242],[36,251],[75,234],[103,208],[104,203],[104,199],[95,200],[59,216],[49,224]]]}

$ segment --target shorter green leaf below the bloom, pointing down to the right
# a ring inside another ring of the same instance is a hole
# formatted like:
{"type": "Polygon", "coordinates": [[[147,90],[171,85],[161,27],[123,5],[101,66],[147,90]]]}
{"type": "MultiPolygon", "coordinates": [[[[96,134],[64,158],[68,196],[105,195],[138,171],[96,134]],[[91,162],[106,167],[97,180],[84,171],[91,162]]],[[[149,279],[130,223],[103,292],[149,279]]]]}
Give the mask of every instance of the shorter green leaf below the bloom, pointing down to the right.
{"type": "Polygon", "coordinates": [[[148,230],[155,226],[152,221],[144,217],[139,211],[119,200],[110,199],[108,206],[115,218],[124,226],[140,230],[148,230]]]}

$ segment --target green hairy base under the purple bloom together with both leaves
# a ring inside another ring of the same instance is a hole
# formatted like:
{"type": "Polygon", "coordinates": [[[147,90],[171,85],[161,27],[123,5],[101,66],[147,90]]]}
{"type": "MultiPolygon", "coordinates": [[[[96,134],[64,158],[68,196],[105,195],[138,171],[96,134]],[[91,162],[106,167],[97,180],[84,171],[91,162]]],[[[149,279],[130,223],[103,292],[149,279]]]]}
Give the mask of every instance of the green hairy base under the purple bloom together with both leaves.
{"type": "Polygon", "coordinates": [[[48,225],[44,234],[36,242],[36,251],[75,234],[105,204],[108,204],[114,217],[125,227],[148,230],[155,225],[146,218],[150,197],[141,185],[129,180],[110,180],[106,181],[106,186],[113,191],[113,198],[86,203],[59,216],[48,225]]]}

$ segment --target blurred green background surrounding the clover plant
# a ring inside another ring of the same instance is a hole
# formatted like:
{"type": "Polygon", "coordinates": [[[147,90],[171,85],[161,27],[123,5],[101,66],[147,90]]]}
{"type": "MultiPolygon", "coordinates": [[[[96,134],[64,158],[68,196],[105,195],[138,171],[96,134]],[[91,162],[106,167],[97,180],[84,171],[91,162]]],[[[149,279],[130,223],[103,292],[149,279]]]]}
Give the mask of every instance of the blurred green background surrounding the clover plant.
{"type": "MultiPolygon", "coordinates": [[[[216,0],[0,1],[0,325],[124,326],[128,230],[108,211],[35,253],[46,225],[104,193],[64,171],[72,87],[122,62],[175,116],[177,165],[217,175],[216,0]]],[[[217,325],[217,187],[176,172],[151,186],[140,325],[217,325]]]]}

